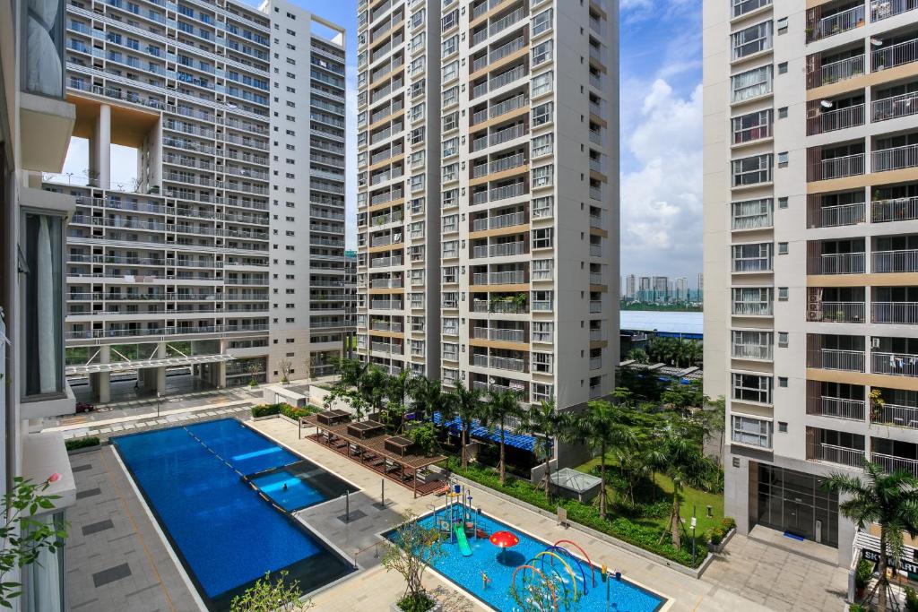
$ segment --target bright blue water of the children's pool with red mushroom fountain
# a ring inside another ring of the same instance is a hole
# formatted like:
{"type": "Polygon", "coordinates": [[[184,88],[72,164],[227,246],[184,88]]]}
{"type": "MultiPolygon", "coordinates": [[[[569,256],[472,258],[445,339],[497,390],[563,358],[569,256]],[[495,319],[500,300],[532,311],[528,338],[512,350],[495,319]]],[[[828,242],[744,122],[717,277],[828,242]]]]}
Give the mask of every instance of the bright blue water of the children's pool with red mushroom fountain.
{"type": "MultiPolygon", "coordinates": [[[[444,514],[441,510],[437,515],[436,522],[433,514],[421,517],[419,520],[424,527],[433,528],[438,525],[443,517],[444,514]]],[[[478,517],[478,529],[484,530],[488,535],[495,531],[509,530],[520,538],[520,543],[501,552],[487,538],[476,539],[470,537],[468,543],[472,548],[472,556],[464,557],[459,551],[458,544],[444,540],[443,548],[446,554],[431,567],[496,610],[501,612],[520,610],[520,606],[509,595],[513,572],[518,566],[530,562],[535,555],[551,546],[551,543],[536,540],[522,531],[510,528],[504,523],[485,516],[478,517]],[[483,586],[482,573],[486,573],[490,579],[487,587],[483,586]]],[[[386,537],[389,540],[394,540],[396,532],[391,531],[386,534],[386,537]]],[[[574,547],[567,545],[565,548],[571,553],[577,554],[577,550],[574,547]]],[[[589,551],[587,552],[589,553],[589,551]]],[[[606,609],[614,612],[655,612],[666,603],[666,599],[654,595],[636,584],[629,583],[624,578],[621,580],[610,578],[608,583],[603,583],[599,575],[599,568],[596,568],[596,586],[593,587],[590,578],[590,567],[586,561],[576,562],[564,552],[559,552],[558,554],[571,567],[574,580],[570,578],[570,573],[566,572],[562,564],[553,560],[550,556],[544,555],[543,561],[536,560],[533,564],[536,568],[542,569],[554,581],[555,588],[559,594],[564,591],[569,594],[568,601],[574,599],[572,583],[577,583],[579,596],[577,603],[571,606],[570,609],[582,612],[594,610],[599,612],[606,609]],[[554,569],[552,561],[554,561],[554,569]],[[586,584],[584,584],[584,579],[581,577],[581,569],[583,570],[583,577],[586,578],[586,584]],[[606,607],[607,584],[610,595],[610,606],[608,608],[606,607]],[[587,587],[586,591],[584,589],[585,586],[587,587]]],[[[600,560],[595,561],[599,562],[600,560]]],[[[610,568],[610,571],[613,570],[610,568]]],[[[517,584],[521,584],[519,575],[517,584]]],[[[561,595],[559,595],[559,601],[562,601],[561,595]]],[[[559,606],[559,610],[563,611],[565,607],[559,606]]]]}

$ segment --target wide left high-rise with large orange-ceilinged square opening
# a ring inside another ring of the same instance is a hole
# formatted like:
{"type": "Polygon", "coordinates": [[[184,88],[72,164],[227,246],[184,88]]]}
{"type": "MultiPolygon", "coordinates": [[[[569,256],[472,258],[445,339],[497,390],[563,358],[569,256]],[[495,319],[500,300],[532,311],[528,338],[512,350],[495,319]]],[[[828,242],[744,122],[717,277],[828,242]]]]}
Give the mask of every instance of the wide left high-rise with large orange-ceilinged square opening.
{"type": "Polygon", "coordinates": [[[164,390],[327,373],[344,325],[344,31],[285,0],[69,3],[89,141],[67,228],[68,373],[164,390]],[[137,150],[112,177],[111,146],[137,150]],[[311,372],[310,372],[311,370],[311,372]]]}

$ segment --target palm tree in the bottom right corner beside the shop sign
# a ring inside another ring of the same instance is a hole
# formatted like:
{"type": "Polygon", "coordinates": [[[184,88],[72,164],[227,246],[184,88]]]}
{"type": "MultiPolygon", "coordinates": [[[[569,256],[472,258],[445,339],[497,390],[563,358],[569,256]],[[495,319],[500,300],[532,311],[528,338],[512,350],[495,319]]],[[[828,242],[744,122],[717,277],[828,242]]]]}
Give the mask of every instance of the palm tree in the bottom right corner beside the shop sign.
{"type": "Polygon", "coordinates": [[[886,577],[887,554],[896,564],[903,551],[902,532],[918,536],[918,478],[896,470],[885,473],[877,463],[864,462],[864,476],[831,473],[823,481],[823,490],[846,495],[838,505],[842,516],[864,530],[871,523],[879,525],[879,581],[865,600],[877,593],[880,612],[885,612],[889,579],[886,577]]]}

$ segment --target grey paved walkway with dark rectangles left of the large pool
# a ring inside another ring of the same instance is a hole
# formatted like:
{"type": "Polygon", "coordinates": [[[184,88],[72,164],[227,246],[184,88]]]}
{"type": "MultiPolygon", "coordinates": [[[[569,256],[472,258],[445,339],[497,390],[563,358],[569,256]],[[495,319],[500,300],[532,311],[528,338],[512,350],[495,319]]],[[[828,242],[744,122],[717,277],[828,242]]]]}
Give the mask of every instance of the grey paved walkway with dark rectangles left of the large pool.
{"type": "Polygon", "coordinates": [[[198,609],[111,447],[71,456],[67,603],[73,612],[198,609]]]}

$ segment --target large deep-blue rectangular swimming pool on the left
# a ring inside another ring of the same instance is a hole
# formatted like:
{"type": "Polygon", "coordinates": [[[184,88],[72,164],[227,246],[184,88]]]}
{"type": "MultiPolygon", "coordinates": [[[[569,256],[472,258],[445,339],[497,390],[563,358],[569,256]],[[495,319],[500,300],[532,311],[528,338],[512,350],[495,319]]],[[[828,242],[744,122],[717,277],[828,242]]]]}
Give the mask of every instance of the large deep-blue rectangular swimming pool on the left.
{"type": "Polygon", "coordinates": [[[209,609],[229,609],[234,595],[267,572],[286,570],[304,592],[353,572],[349,562],[245,483],[242,474],[301,460],[239,421],[111,441],[209,609]]]}

